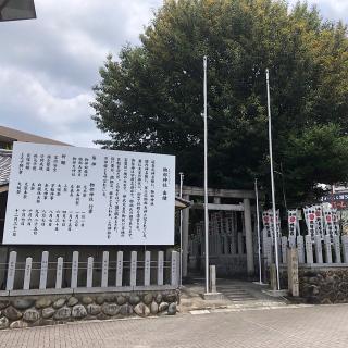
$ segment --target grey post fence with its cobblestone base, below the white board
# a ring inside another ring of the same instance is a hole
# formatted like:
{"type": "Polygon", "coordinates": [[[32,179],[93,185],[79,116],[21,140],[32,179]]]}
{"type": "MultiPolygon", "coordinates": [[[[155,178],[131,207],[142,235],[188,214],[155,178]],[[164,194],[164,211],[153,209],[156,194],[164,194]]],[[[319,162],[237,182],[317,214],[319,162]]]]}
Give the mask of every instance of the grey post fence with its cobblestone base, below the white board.
{"type": "Polygon", "coordinates": [[[173,315],[179,302],[179,254],[163,251],[102,252],[71,261],[63,257],[17,262],[11,251],[5,290],[0,291],[0,328],[58,324],[76,320],[173,315]]]}

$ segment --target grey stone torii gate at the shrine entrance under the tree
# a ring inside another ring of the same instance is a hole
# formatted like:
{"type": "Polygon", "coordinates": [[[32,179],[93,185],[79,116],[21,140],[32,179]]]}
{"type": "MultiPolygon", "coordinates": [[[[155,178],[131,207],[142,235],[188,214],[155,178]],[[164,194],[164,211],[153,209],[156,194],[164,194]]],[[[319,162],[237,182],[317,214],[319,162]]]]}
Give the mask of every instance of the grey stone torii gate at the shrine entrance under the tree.
{"type": "MultiPolygon", "coordinates": [[[[179,187],[176,186],[176,191],[179,187]]],[[[195,186],[183,186],[183,198],[190,201],[192,197],[203,197],[204,189],[195,186]]],[[[250,200],[256,199],[253,190],[241,189],[208,189],[208,197],[213,197],[213,203],[208,204],[209,210],[220,211],[238,211],[244,212],[244,223],[246,233],[246,251],[247,251],[247,271],[249,275],[254,273],[253,245],[252,245],[252,226],[251,226],[251,207],[250,200]],[[239,204],[221,203],[222,198],[240,199],[239,204]]],[[[188,256],[188,228],[190,209],[203,209],[202,203],[192,203],[190,208],[183,210],[183,276],[187,276],[187,256],[188,256]]]]}

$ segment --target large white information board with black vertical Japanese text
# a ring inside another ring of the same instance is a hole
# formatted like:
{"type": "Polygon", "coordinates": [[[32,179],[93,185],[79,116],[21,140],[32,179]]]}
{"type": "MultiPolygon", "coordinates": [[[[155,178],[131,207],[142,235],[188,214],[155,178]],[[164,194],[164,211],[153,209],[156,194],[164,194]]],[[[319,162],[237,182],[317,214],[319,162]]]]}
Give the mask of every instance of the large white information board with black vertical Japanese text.
{"type": "Polygon", "coordinates": [[[173,245],[175,157],[14,142],[3,244],[173,245]]]}

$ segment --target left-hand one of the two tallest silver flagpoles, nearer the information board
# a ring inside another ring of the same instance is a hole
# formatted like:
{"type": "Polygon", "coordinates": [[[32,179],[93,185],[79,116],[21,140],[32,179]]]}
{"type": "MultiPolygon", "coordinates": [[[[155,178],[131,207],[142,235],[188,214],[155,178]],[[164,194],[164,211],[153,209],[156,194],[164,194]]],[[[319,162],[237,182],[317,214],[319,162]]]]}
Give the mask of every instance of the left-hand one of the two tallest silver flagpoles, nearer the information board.
{"type": "Polygon", "coordinates": [[[203,57],[204,70],[204,236],[206,236],[206,294],[209,293],[209,216],[208,216],[208,126],[207,126],[207,55],[203,57]]]}

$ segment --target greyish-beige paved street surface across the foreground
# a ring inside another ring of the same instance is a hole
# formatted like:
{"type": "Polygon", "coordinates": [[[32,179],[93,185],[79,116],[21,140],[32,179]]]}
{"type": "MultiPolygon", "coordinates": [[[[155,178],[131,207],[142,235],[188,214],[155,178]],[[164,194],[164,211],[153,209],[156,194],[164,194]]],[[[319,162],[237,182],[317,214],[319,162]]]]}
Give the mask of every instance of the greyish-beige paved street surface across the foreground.
{"type": "Polygon", "coordinates": [[[1,348],[346,348],[348,306],[80,322],[0,332],[1,348]]]}

